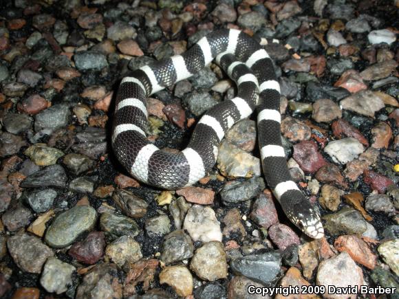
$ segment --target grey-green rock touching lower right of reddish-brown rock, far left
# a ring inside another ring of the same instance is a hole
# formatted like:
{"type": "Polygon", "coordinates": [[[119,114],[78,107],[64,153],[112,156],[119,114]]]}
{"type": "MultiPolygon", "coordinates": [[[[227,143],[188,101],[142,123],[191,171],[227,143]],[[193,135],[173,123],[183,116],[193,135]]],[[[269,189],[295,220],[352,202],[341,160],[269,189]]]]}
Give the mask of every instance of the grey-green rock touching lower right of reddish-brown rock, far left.
{"type": "Polygon", "coordinates": [[[36,132],[43,129],[56,130],[66,126],[69,122],[69,106],[67,104],[54,104],[40,113],[34,115],[34,129],[36,132]]]}

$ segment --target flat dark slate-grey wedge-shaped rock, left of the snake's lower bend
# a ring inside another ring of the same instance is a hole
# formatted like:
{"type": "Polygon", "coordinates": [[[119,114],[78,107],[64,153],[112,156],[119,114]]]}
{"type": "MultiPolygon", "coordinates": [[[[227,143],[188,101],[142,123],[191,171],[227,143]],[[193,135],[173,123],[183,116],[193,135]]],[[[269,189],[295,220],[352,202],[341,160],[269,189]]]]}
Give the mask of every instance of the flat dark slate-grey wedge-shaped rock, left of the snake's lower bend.
{"type": "Polygon", "coordinates": [[[21,181],[21,188],[35,187],[59,187],[64,188],[67,182],[67,175],[61,165],[54,164],[47,166],[21,181]]]}

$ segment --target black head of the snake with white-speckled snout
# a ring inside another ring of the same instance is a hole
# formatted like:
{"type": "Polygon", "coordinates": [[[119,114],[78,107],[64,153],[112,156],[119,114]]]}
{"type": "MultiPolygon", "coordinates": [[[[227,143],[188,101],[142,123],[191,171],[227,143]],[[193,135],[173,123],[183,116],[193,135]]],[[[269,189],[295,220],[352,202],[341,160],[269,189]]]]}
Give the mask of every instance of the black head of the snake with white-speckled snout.
{"type": "Polygon", "coordinates": [[[281,206],[288,219],[302,232],[313,239],[321,239],[324,236],[323,224],[321,224],[319,212],[312,204],[301,195],[300,200],[292,199],[281,201],[281,206]]]}

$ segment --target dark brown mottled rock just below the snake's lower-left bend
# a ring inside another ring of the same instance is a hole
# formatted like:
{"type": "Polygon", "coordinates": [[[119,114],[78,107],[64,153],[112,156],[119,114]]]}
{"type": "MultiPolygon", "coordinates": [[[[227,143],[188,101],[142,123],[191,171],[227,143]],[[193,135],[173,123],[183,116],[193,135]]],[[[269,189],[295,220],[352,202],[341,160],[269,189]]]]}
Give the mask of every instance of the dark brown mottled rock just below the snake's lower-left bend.
{"type": "Polygon", "coordinates": [[[114,199],[122,212],[129,217],[141,218],[147,213],[148,203],[133,195],[131,191],[116,189],[112,199],[114,199]]]}

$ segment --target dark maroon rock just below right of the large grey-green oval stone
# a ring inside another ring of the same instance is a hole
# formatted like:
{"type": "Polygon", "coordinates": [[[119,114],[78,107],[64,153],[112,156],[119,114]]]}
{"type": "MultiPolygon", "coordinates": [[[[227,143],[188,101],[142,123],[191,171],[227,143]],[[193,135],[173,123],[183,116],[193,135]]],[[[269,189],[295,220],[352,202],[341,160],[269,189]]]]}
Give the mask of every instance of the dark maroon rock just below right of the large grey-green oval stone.
{"type": "Polygon", "coordinates": [[[105,245],[103,232],[90,232],[83,241],[74,243],[68,254],[80,263],[94,265],[103,257],[105,245]]]}

